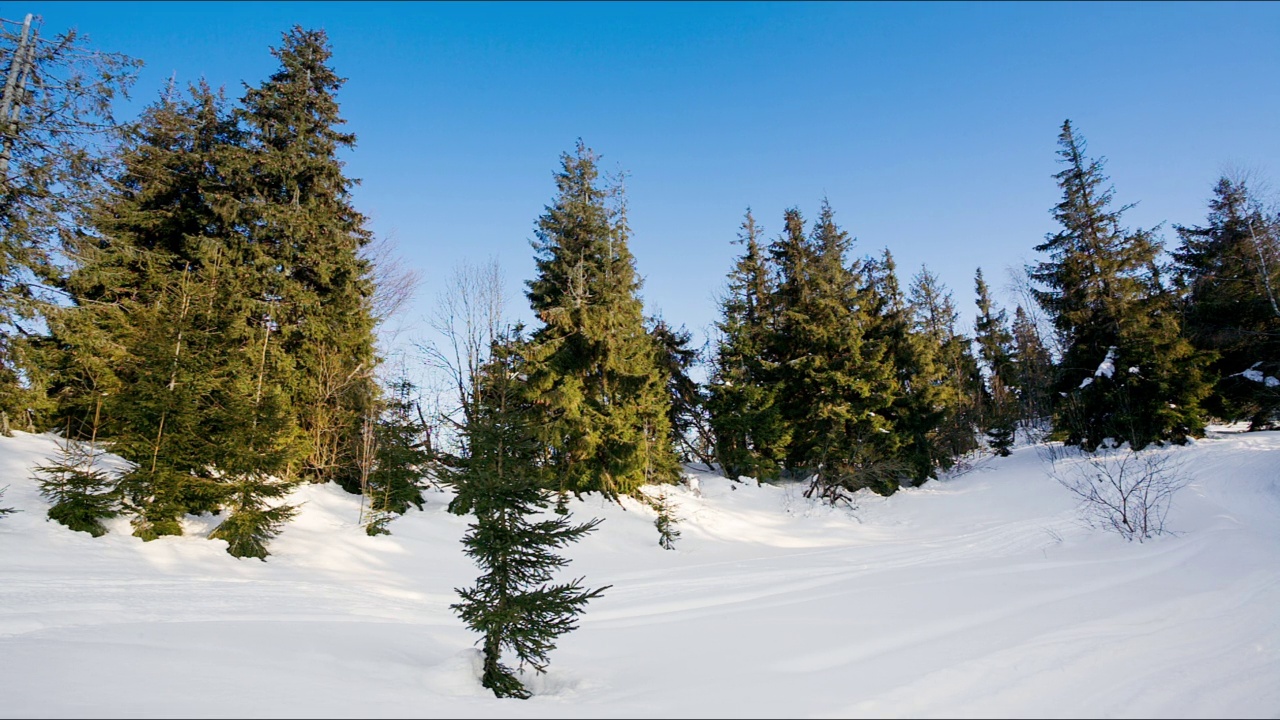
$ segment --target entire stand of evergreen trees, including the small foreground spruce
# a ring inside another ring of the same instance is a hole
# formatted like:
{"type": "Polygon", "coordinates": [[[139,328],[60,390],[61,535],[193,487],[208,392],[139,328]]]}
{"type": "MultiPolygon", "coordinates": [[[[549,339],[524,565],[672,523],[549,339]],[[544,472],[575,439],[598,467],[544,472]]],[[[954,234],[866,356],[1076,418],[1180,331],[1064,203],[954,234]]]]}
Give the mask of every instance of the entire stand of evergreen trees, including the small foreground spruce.
{"type": "Polygon", "coordinates": [[[1135,199],[1070,120],[1044,128],[1060,201],[1019,302],[989,268],[954,291],[859,245],[826,199],[778,199],[818,210],[748,209],[707,238],[736,250],[705,347],[646,313],[623,184],[570,138],[529,219],[536,320],[502,316],[495,270],[461,274],[452,347],[417,360],[452,380],[429,402],[381,356],[398,287],[339,159],[356,135],[324,31],[283,32],[238,95],[172,81],[131,118],[140,60],[29,19],[3,32],[0,433],[65,441],[40,469],[50,520],[96,537],[127,518],[152,541],[207,514],[230,555],[268,560],[302,483],[360,495],[370,536],[452,488],[484,573],[454,609],[499,696],[529,694],[503,652],[541,670],[605,589],[552,584],[598,524],[568,497],[645,502],[672,547],[645,488],[682,464],[840,503],[1018,442],[1140,450],[1280,421],[1272,199],[1207,177],[1171,238],[1130,227],[1135,199]]]}

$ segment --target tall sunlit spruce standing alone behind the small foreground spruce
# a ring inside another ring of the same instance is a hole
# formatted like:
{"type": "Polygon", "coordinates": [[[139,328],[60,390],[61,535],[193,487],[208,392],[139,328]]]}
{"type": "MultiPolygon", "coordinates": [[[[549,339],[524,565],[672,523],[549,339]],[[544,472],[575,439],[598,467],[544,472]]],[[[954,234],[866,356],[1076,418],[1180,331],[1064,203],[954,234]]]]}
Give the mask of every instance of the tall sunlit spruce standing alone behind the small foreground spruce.
{"type": "Polygon", "coordinates": [[[675,482],[667,374],[645,332],[640,278],[618,184],[580,140],[561,158],[557,195],[538,220],[529,302],[541,327],[527,350],[558,489],[630,495],[675,482]]]}

